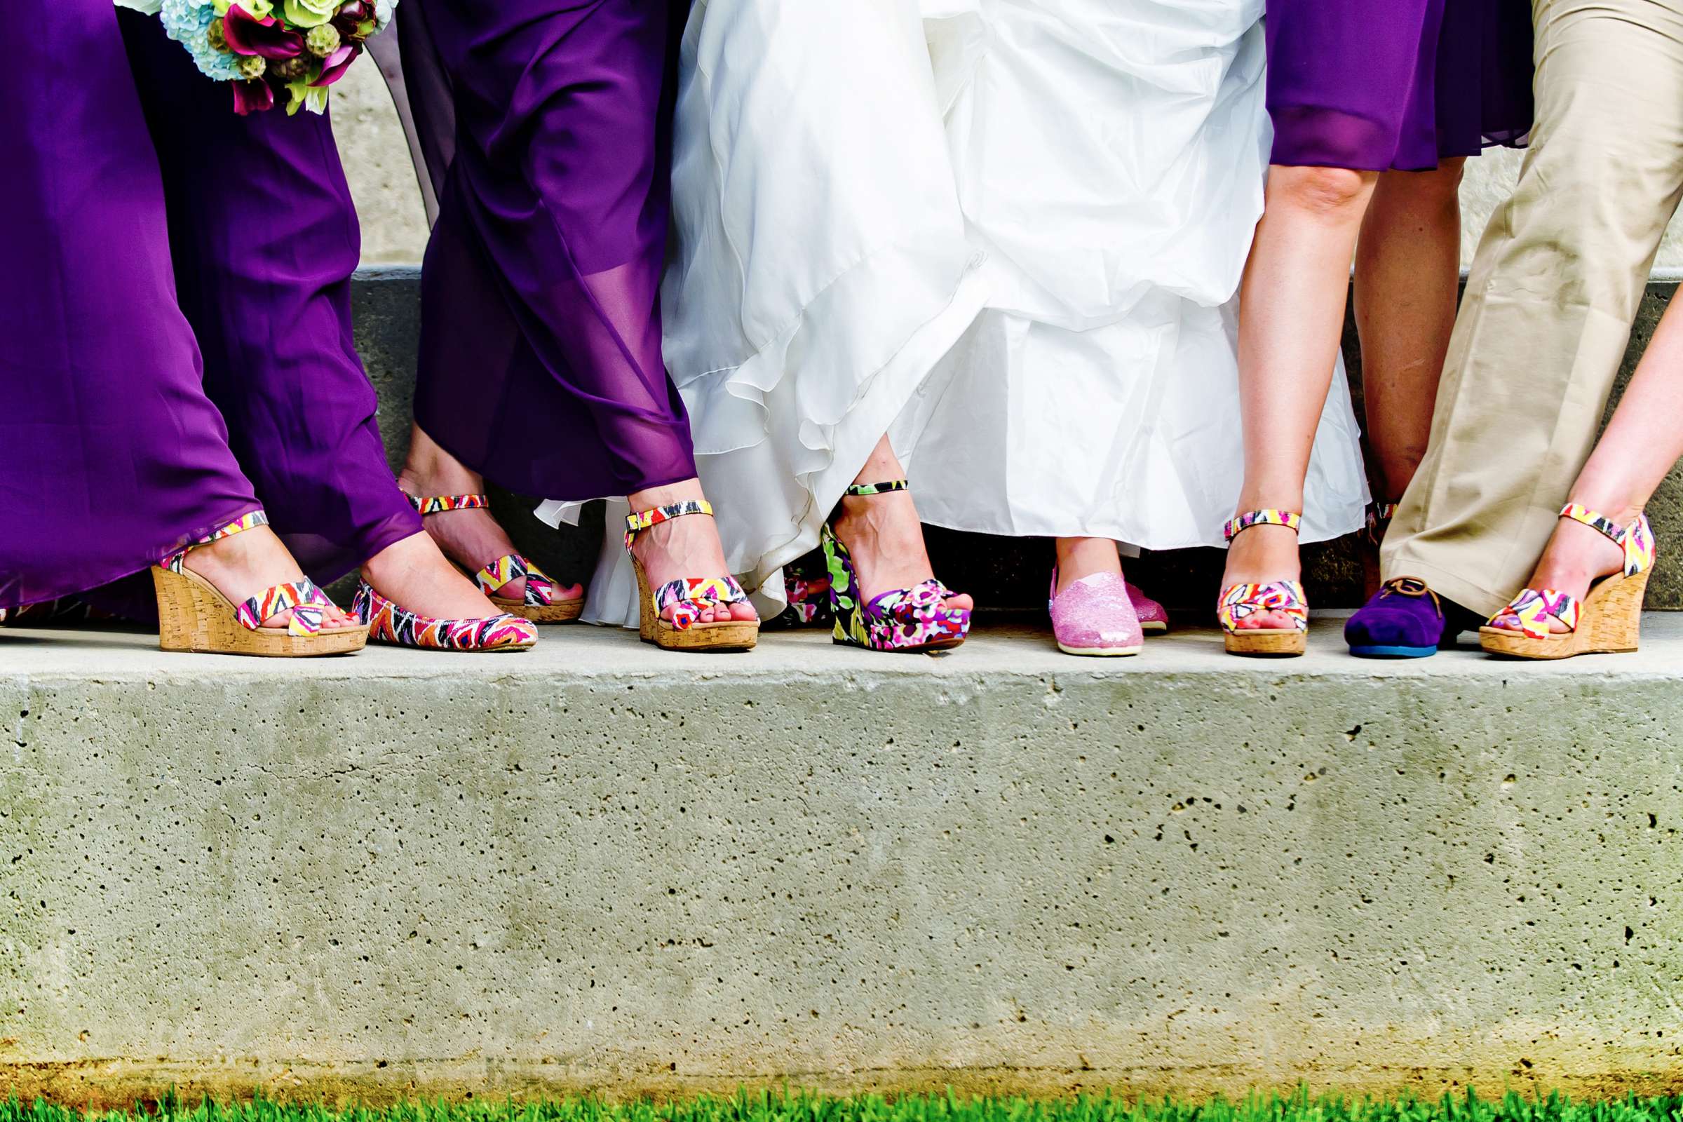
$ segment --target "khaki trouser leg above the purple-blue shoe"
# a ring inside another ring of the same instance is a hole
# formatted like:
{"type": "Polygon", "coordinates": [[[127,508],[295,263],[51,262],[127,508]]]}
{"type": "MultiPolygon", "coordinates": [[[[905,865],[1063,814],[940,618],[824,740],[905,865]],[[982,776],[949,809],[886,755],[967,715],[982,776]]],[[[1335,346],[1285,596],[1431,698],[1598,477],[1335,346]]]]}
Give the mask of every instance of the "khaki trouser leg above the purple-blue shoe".
{"type": "Polygon", "coordinates": [[[1432,436],[1382,550],[1486,616],[1594,446],[1683,192],[1683,0],[1533,0],[1537,128],[1479,242],[1432,436]]]}

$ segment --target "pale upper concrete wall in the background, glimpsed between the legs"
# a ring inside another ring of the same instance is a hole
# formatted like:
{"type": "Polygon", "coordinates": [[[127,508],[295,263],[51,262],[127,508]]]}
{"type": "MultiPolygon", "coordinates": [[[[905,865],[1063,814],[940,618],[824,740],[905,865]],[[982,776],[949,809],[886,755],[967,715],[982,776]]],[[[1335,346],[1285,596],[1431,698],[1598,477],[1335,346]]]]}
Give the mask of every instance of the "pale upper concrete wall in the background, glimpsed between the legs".
{"type": "MultiPolygon", "coordinates": [[[[335,130],[350,175],[364,227],[367,264],[409,264],[421,261],[426,219],[421,192],[409,170],[409,153],[392,111],[390,98],[372,66],[353,66],[333,93],[335,130]]],[[[1493,151],[1469,165],[1461,192],[1466,207],[1463,261],[1484,230],[1491,209],[1506,195],[1520,168],[1520,153],[1493,151]]],[[[1658,267],[1683,269],[1683,224],[1673,224],[1659,251],[1658,267]]]]}

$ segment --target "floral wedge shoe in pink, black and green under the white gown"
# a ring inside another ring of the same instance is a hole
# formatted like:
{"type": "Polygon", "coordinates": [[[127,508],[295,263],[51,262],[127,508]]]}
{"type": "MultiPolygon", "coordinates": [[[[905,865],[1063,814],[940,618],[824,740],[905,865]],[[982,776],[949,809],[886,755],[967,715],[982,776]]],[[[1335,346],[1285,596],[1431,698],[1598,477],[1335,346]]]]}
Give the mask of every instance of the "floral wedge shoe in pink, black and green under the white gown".
{"type": "MultiPolygon", "coordinates": [[[[907,491],[905,479],[855,483],[845,495],[870,496],[907,491]]],[[[890,589],[863,601],[853,557],[835,532],[835,518],[823,530],[825,565],[830,569],[831,638],[868,651],[942,651],[969,636],[969,609],[944,607],[954,592],[936,579],[916,589],[890,589]]]]}

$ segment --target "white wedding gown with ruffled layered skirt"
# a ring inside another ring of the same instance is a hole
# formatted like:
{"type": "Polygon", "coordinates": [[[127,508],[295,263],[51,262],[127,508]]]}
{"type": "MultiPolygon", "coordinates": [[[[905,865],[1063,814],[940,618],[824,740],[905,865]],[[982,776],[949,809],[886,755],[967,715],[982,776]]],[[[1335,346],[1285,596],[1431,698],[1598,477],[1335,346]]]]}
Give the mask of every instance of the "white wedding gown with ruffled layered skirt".
{"type": "MultiPolygon", "coordinates": [[[[1222,543],[1242,474],[1234,294],[1267,158],[1261,17],[697,0],[665,350],[762,614],[884,431],[926,521],[1222,543]]],[[[1358,528],[1365,503],[1340,367],[1304,540],[1358,528]]],[[[634,626],[623,513],[586,619],[634,626]]]]}

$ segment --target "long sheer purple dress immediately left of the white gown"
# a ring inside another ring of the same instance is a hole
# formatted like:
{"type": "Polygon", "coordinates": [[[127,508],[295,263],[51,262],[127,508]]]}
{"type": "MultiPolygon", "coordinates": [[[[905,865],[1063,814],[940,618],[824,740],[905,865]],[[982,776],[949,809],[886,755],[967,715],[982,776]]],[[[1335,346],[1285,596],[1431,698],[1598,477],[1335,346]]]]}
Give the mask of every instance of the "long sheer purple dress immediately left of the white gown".
{"type": "Polygon", "coordinates": [[[439,200],[416,421],[527,495],[693,476],[660,352],[673,3],[404,0],[397,27],[439,200]]]}

